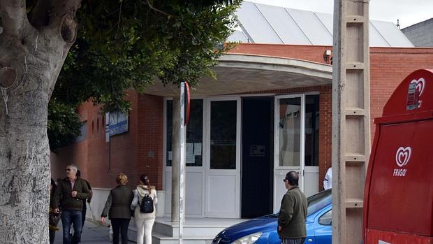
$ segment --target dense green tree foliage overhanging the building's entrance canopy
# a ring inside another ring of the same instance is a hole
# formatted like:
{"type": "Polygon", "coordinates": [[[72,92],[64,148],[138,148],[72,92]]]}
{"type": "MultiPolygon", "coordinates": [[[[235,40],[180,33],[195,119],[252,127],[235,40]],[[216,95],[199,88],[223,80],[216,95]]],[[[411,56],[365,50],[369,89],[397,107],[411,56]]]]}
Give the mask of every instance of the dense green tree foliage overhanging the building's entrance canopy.
{"type": "Polygon", "coordinates": [[[234,11],[240,2],[82,1],[78,38],[50,103],[50,145],[67,143],[79,130],[73,121],[78,116],[54,117],[66,109],[62,106],[72,109],[91,99],[104,111],[129,110],[129,102],[124,101],[128,89],[143,92],[156,80],[163,84],[188,80],[193,87],[203,76],[214,77],[212,66],[231,47],[221,44],[235,27],[234,11]],[[64,122],[71,126],[60,124],[64,122]]]}

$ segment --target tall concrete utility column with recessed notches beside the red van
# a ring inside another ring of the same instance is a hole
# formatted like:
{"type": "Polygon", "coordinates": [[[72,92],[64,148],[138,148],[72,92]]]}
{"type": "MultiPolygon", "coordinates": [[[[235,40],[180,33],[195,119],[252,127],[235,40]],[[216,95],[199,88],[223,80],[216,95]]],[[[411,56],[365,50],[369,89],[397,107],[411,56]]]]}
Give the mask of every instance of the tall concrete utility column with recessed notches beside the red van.
{"type": "Polygon", "coordinates": [[[362,241],[370,152],[369,1],[335,0],[332,57],[332,243],[362,241]]]}

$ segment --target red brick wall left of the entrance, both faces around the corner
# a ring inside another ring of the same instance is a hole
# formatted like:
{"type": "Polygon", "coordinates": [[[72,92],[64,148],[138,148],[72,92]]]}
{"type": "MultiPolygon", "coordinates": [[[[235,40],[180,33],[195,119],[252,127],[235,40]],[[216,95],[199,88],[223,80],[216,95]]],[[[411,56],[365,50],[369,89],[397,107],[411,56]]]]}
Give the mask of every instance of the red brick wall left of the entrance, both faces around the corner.
{"type": "Polygon", "coordinates": [[[128,99],[132,105],[129,131],[111,136],[109,143],[105,142],[105,114],[101,114],[101,108],[91,102],[80,106],[82,122],[87,122],[87,139],[62,148],[52,157],[56,164],[52,167],[54,178],[64,177],[62,169],[73,162],[92,187],[111,188],[122,172],[128,175],[131,187],[140,174],[146,173],[152,185],[162,188],[163,98],[130,92],[128,99]]]}

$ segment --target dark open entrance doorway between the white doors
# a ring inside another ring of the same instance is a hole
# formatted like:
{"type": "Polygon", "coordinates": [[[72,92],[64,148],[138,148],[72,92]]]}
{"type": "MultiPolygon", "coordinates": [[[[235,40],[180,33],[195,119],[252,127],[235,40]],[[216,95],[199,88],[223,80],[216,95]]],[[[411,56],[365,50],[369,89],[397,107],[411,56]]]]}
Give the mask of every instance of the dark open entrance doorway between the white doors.
{"type": "Polygon", "coordinates": [[[274,98],[242,99],[241,217],[272,213],[274,98]]]}

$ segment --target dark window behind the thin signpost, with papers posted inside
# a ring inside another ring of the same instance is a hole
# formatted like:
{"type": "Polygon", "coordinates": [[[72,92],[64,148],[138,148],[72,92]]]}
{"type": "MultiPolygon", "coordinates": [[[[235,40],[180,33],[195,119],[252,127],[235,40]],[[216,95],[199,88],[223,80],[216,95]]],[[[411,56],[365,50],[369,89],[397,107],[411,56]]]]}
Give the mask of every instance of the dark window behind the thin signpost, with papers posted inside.
{"type": "MultiPolygon", "coordinates": [[[[167,103],[166,166],[173,158],[173,101],[167,103]]],[[[186,126],[186,166],[203,165],[203,99],[192,99],[189,122],[186,126]]]]}

